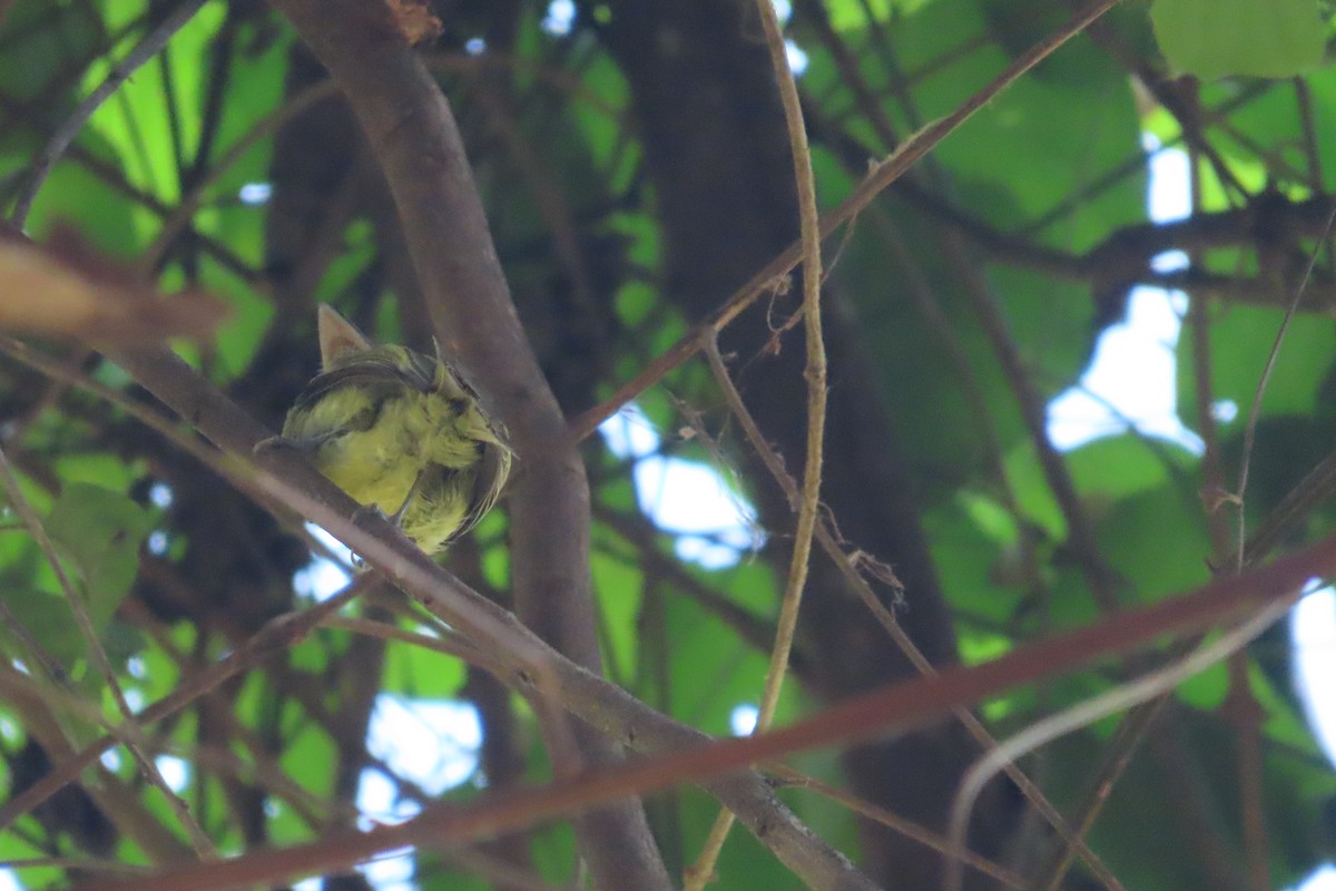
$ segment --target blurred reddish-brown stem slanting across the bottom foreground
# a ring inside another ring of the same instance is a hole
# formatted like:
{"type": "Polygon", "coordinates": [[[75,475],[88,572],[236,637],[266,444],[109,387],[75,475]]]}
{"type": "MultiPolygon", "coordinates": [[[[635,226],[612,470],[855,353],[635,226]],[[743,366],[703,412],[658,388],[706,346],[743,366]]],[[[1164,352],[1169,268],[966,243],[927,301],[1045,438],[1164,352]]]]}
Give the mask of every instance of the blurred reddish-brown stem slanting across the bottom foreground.
{"type": "MultiPolygon", "coordinates": [[[[349,529],[353,528],[349,525],[349,529]]],[[[365,538],[366,544],[374,542],[371,536],[362,534],[359,538],[365,538]]],[[[1098,625],[1019,647],[979,665],[953,667],[933,677],[852,696],[820,715],[759,736],[688,745],[661,756],[557,779],[542,787],[488,796],[462,807],[454,803],[433,806],[405,823],[377,827],[371,832],[330,832],[310,843],[257,851],[216,864],[174,866],[134,884],[99,883],[88,886],[87,891],[174,891],[182,887],[210,891],[277,883],[281,876],[329,871],[395,848],[440,846],[478,835],[504,834],[576,808],[675,783],[732,775],[747,764],[835,741],[899,735],[923,727],[954,707],[969,705],[1003,688],[1051,677],[1075,664],[1126,653],[1162,635],[1198,632],[1220,622],[1237,621],[1241,616],[1257,616],[1259,610],[1291,600],[1289,594],[1276,592],[1295,592],[1308,578],[1333,570],[1336,537],[1283,557],[1246,577],[1217,578],[1190,594],[1124,610],[1098,625]]],[[[554,661],[553,667],[561,673],[564,684],[588,687],[604,683],[565,660],[554,661]],[[572,669],[574,673],[570,673],[572,669]]],[[[831,887],[867,886],[846,880],[831,887]]]]}

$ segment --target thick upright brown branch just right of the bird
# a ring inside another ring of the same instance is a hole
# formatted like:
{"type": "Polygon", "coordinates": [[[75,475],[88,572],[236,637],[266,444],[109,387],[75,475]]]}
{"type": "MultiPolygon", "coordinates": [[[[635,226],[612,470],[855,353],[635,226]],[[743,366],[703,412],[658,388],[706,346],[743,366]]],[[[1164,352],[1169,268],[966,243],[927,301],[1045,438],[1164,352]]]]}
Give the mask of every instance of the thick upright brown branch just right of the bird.
{"type": "MultiPolygon", "coordinates": [[[[477,375],[510,429],[520,473],[510,494],[512,568],[521,618],[576,663],[599,671],[589,589],[589,486],[565,419],[520,326],[464,143],[440,87],[378,0],[279,0],[347,95],[390,186],[422,295],[446,353],[477,375]]],[[[557,769],[621,755],[588,728],[545,723],[557,769]]],[[[668,888],[637,801],[576,822],[595,882],[668,888]]]]}

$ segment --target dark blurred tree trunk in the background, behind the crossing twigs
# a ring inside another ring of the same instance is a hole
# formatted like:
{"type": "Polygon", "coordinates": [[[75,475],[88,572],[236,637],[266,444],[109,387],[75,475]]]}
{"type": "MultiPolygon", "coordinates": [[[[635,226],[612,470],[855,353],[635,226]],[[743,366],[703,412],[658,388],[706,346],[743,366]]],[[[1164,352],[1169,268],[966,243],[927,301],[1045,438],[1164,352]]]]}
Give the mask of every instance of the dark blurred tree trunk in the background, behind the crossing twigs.
{"type": "MultiPolygon", "coordinates": [[[[667,293],[699,319],[798,236],[792,166],[766,48],[749,39],[758,25],[745,3],[611,5],[601,36],[631,83],[668,242],[667,293]]],[[[947,605],[896,456],[903,419],[884,413],[886,399],[859,355],[856,318],[839,309],[826,311],[831,399],[823,501],[852,546],[894,564],[907,590],[902,624],[933,663],[950,664],[957,655],[947,605]]],[[[770,338],[752,313],[725,333],[723,347],[749,363],[770,338]]],[[[806,437],[802,365],[794,341],[751,363],[752,374],[740,381],[791,473],[802,466],[806,437]]],[[[758,461],[751,468],[748,478],[767,478],[758,461]]],[[[790,532],[792,512],[779,489],[760,485],[756,496],[763,524],[790,532]]],[[[784,554],[774,560],[783,565],[784,554]]],[[[830,562],[814,561],[799,633],[803,680],[827,700],[914,673],[830,562]]],[[[941,830],[977,755],[951,723],[850,749],[844,765],[855,793],[941,830]]],[[[1011,816],[1007,801],[985,803],[974,834],[982,854],[998,852],[1011,816]]],[[[941,876],[937,854],[884,827],[866,826],[864,855],[868,874],[886,887],[927,887],[941,876]]]]}

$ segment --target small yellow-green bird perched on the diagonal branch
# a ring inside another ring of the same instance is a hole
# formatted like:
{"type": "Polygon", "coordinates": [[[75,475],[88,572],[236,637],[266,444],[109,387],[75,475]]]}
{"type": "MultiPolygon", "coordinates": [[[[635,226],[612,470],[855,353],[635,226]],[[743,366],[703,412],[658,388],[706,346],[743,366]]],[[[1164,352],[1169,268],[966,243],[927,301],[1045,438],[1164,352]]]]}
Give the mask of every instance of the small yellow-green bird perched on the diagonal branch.
{"type": "Polygon", "coordinates": [[[261,446],[305,453],[422,550],[442,550],[496,505],[510,474],[505,429],[440,347],[428,358],[377,346],[325,305],[318,327],[321,373],[261,446]]]}

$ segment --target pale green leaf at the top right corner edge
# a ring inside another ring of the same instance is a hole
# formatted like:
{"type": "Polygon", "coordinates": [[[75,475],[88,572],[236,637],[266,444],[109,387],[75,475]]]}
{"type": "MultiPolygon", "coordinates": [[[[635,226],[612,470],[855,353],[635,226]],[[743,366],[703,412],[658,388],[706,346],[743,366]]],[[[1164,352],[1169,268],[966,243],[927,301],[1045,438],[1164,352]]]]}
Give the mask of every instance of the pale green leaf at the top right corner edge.
{"type": "Polygon", "coordinates": [[[1160,48],[1204,80],[1292,77],[1323,60],[1327,29],[1316,0],[1156,0],[1160,48]]]}

